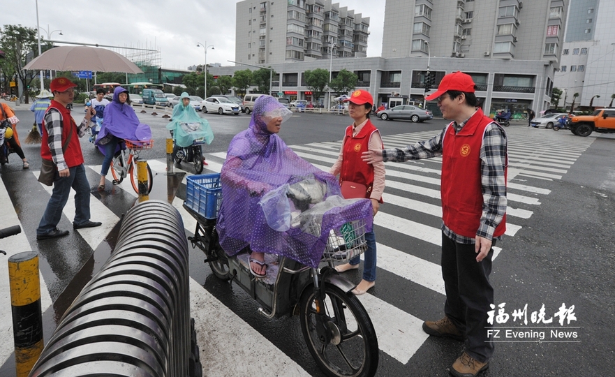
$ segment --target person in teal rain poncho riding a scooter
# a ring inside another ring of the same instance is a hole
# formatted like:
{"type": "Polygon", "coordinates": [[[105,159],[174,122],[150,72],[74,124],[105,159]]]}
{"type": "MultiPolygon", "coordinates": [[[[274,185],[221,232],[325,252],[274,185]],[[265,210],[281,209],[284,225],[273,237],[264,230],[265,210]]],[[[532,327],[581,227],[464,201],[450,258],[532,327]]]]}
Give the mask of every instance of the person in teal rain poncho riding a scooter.
{"type": "MultiPolygon", "coordinates": [[[[214,133],[209,127],[209,122],[202,119],[190,105],[190,97],[184,91],[181,94],[181,103],[178,103],[173,108],[171,122],[167,124],[167,129],[171,131],[175,147],[173,148],[173,158],[177,149],[190,147],[195,140],[205,139],[207,144],[211,144],[214,140],[214,133]]],[[[202,156],[202,153],[201,153],[202,156]]]]}

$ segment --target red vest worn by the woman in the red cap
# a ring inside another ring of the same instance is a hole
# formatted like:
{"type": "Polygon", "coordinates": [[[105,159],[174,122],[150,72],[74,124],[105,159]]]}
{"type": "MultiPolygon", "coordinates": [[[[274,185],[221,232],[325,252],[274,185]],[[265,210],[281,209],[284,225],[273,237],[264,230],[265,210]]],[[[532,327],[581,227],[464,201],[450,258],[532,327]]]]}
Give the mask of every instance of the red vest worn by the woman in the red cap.
{"type": "MultiPolygon", "coordinates": [[[[353,126],[348,126],[343,141],[343,163],[339,172],[339,183],[350,181],[364,184],[367,186],[366,198],[369,198],[373,187],[373,166],[363,161],[361,156],[364,151],[369,150],[369,138],[375,132],[378,132],[378,128],[367,119],[367,123],[354,137],[353,126]]],[[[382,201],[382,198],[379,200],[382,201]]]]}

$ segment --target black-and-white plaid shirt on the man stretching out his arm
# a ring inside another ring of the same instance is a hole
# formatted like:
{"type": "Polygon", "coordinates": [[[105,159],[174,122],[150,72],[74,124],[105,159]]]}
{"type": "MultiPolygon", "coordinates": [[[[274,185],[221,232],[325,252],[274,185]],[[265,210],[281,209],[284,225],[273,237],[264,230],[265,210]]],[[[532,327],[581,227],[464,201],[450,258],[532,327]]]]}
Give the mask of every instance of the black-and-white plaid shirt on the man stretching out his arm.
{"type": "MultiPolygon", "coordinates": [[[[461,124],[452,122],[455,133],[468,122],[469,118],[461,124]]],[[[448,126],[447,126],[448,127],[448,126]]],[[[408,161],[421,158],[442,156],[442,139],[447,127],[442,132],[424,142],[408,145],[403,149],[383,150],[384,161],[408,161]]],[[[506,213],[506,179],[504,167],[507,166],[507,138],[504,130],[495,123],[485,128],[484,138],[480,146],[480,180],[482,184],[482,197],[484,200],[480,226],[476,235],[487,239],[494,238],[496,226],[501,223],[506,213]]],[[[457,235],[445,223],[442,223],[444,234],[459,244],[474,244],[475,239],[457,235]]],[[[499,239],[500,237],[496,237],[499,239]]]]}

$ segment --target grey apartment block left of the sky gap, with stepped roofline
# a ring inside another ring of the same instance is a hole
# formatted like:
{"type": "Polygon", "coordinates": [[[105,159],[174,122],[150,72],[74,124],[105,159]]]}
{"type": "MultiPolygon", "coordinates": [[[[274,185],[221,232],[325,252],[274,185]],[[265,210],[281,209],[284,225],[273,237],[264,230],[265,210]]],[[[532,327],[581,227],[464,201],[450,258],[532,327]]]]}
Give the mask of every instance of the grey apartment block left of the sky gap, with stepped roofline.
{"type": "Polygon", "coordinates": [[[330,0],[237,3],[235,61],[276,64],[365,57],[369,17],[330,0]]]}

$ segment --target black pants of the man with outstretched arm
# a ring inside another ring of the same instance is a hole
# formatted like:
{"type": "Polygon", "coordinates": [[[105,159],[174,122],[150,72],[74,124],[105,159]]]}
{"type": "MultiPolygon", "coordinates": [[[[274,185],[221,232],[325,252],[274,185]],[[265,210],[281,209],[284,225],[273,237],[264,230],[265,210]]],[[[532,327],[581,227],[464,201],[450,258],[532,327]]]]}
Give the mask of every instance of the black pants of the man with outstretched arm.
{"type": "MultiPolygon", "coordinates": [[[[495,245],[494,244],[492,246],[495,245]]],[[[476,262],[474,244],[458,244],[442,235],[442,276],[446,291],[444,313],[459,331],[466,334],[466,352],[480,362],[494,353],[489,342],[487,311],[494,303],[494,288],[489,283],[494,249],[476,262]]]]}

